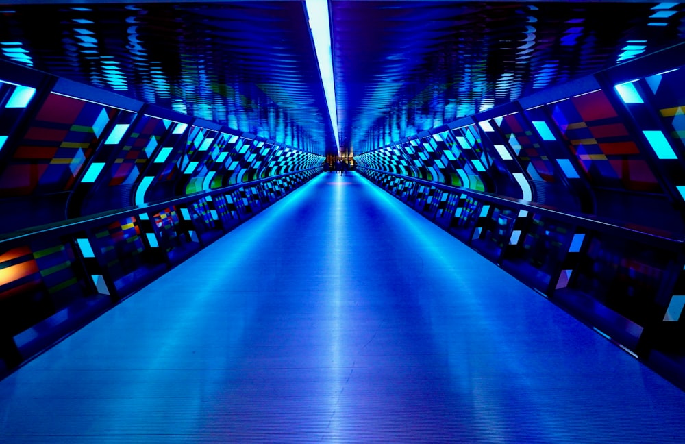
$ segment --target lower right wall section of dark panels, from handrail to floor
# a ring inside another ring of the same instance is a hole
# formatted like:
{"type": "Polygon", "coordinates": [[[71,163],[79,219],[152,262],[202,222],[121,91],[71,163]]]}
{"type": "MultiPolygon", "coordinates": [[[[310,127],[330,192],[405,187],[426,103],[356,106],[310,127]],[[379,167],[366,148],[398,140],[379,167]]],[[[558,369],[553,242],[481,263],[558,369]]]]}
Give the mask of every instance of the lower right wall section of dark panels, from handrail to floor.
{"type": "Polygon", "coordinates": [[[682,234],[367,167],[358,171],[685,389],[682,234]]]}

